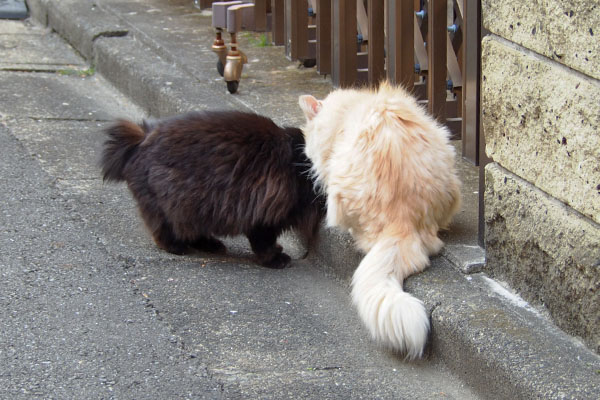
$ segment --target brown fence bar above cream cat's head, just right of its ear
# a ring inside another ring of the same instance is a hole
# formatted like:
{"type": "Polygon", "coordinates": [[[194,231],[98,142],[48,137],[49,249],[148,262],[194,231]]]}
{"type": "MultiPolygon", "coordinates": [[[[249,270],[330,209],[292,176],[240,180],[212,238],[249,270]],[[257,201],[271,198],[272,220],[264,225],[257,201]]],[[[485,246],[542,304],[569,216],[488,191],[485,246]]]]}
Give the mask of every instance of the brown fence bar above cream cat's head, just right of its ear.
{"type": "Polygon", "coordinates": [[[356,1],[331,2],[331,80],[335,86],[348,87],[356,82],[356,1]]]}

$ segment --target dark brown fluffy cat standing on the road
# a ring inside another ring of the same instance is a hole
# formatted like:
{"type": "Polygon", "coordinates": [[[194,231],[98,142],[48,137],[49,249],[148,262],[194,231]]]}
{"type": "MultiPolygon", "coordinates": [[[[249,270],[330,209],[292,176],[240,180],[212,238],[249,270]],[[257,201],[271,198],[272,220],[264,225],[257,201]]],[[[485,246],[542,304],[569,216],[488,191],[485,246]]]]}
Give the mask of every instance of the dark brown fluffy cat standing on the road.
{"type": "Polygon", "coordinates": [[[304,137],[256,114],[194,112],[106,130],[105,181],[126,181],[156,244],[184,254],[224,251],[214,236],[244,234],[258,261],[283,268],[277,237],[297,230],[307,243],[324,215],[304,137]]]}

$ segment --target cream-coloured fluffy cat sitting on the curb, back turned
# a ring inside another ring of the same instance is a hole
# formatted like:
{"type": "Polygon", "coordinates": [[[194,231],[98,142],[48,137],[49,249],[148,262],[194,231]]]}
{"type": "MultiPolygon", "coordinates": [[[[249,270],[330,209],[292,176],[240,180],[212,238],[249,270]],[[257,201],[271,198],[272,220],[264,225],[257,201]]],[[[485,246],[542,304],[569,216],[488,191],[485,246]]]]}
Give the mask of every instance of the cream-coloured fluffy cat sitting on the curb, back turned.
{"type": "Polygon", "coordinates": [[[429,317],[402,283],[441,249],[437,232],[460,207],[449,133],[388,83],[299,102],[306,155],[327,193],[327,223],[349,230],[367,253],[352,278],[360,317],[378,342],[420,357],[429,317]]]}

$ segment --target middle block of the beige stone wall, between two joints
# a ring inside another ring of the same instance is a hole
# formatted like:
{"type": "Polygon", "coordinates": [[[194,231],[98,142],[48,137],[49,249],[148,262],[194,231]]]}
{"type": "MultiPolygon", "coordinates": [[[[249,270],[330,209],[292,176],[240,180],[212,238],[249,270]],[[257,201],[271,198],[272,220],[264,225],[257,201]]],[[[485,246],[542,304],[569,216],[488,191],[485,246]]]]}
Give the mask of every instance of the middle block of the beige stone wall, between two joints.
{"type": "Polygon", "coordinates": [[[600,82],[493,36],[482,53],[487,154],[600,223],[600,82]]]}

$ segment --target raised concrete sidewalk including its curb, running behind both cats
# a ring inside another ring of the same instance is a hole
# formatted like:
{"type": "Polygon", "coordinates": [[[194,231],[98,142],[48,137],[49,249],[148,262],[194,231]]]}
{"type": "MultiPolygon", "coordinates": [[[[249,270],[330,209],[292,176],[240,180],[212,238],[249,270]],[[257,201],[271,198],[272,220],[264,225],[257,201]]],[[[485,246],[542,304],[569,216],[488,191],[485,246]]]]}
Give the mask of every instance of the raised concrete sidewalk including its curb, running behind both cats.
{"type": "MultiPolygon", "coordinates": [[[[296,106],[298,95],[323,96],[331,89],[314,70],[286,61],[282,48],[256,47],[248,37],[241,43],[250,63],[239,93],[229,95],[210,51],[210,17],[194,9],[191,0],[28,3],[38,20],[153,116],[236,108],[268,115],[280,124],[299,125],[303,121],[296,106]]],[[[466,167],[464,176],[473,179],[466,167]]],[[[450,366],[490,398],[597,398],[597,355],[535,310],[519,305],[483,274],[463,275],[450,265],[448,259],[460,263],[464,260],[460,253],[475,244],[467,222],[476,208],[466,207],[444,235],[445,256],[433,259],[430,269],[406,283],[407,290],[431,310],[430,361],[450,366]],[[448,253],[449,248],[456,252],[448,253]]],[[[347,235],[325,230],[322,236],[312,260],[346,284],[361,255],[347,235]]]]}

